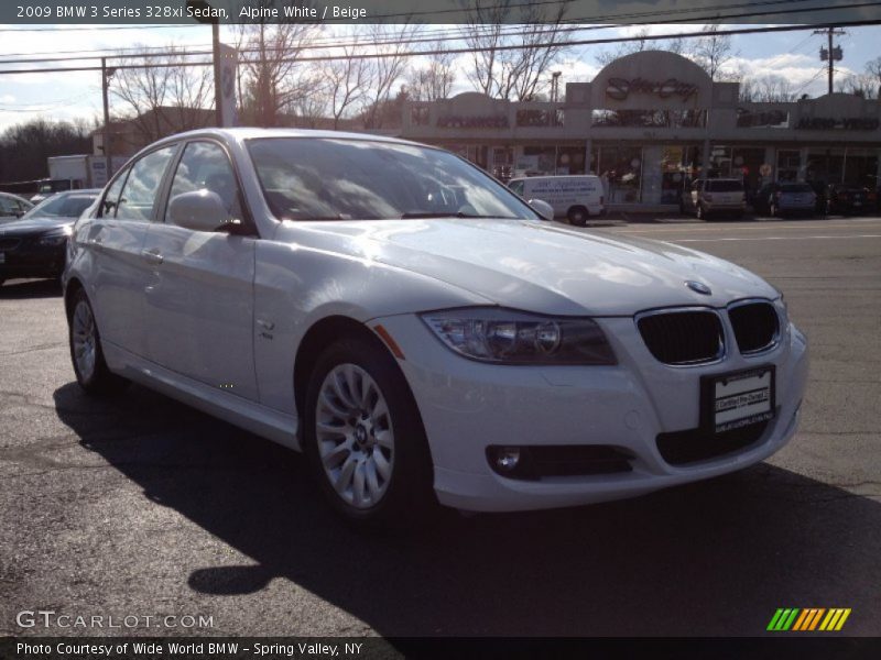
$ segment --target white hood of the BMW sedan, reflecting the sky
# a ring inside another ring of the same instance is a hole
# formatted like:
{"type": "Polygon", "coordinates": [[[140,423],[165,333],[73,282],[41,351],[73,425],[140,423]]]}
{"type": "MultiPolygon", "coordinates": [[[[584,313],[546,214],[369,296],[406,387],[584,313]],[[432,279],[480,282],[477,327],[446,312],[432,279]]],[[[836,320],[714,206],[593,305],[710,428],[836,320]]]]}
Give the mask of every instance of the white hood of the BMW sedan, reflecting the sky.
{"type": "MultiPolygon", "coordinates": [[[[305,229],[305,228],[304,228],[305,229]]],[[[503,307],[630,316],[679,305],[777,297],[761,277],[672,243],[581,232],[552,222],[432,219],[311,224],[316,248],[405,268],[503,307]],[[341,240],[340,240],[341,239],[341,240]],[[703,295],[694,280],[709,287],[703,295]]],[[[305,238],[305,237],[302,237],[305,238]]]]}

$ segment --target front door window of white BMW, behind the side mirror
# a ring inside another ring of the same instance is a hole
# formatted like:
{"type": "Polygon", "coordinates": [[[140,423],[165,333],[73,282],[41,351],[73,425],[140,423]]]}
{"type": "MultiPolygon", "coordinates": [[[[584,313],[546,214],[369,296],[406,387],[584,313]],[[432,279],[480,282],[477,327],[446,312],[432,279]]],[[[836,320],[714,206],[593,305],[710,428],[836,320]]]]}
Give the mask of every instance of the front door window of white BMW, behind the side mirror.
{"type": "MultiPolygon", "coordinates": [[[[174,175],[168,199],[194,190],[217,193],[230,217],[242,219],[241,195],[236,184],[232,164],[226,152],[214,142],[191,142],[174,175]]],[[[165,221],[168,221],[167,210],[165,221]]]]}

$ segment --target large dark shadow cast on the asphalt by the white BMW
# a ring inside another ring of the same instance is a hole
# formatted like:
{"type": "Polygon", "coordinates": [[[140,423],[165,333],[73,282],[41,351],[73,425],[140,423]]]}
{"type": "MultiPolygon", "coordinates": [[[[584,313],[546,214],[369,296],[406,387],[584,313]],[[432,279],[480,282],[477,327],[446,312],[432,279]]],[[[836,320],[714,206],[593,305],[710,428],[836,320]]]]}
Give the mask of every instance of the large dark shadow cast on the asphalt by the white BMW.
{"type": "Polygon", "coordinates": [[[769,464],[618,503],[447,510],[420,531],[361,534],[284,448],[137,386],[96,400],[72,383],[54,398],[84,448],[253,560],[182,566],[208,598],[286,579],[383,636],[761,635],[792,606],[852,607],[853,634],[860,606],[877,608],[881,506],[769,464]]]}

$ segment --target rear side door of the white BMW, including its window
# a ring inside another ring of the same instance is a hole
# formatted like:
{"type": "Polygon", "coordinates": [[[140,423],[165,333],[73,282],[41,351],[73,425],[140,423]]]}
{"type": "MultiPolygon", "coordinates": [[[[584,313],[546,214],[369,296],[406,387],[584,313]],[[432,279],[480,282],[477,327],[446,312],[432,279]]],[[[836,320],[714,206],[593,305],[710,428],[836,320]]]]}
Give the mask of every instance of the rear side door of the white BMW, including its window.
{"type": "Polygon", "coordinates": [[[104,341],[144,355],[148,267],[141,250],[177,145],[140,157],[110,185],[78,242],[89,251],[89,298],[104,341]]]}

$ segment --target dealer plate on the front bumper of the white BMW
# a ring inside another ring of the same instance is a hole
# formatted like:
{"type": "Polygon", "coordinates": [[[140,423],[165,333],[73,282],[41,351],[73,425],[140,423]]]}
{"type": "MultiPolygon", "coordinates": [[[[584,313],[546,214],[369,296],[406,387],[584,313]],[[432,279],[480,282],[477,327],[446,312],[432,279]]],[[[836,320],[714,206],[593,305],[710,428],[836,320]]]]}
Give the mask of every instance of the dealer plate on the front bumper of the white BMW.
{"type": "Polygon", "coordinates": [[[717,433],[774,417],[773,366],[706,376],[704,387],[708,426],[717,433]]]}

